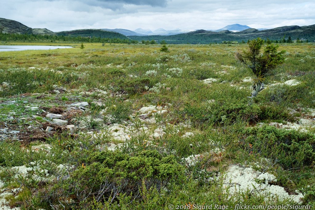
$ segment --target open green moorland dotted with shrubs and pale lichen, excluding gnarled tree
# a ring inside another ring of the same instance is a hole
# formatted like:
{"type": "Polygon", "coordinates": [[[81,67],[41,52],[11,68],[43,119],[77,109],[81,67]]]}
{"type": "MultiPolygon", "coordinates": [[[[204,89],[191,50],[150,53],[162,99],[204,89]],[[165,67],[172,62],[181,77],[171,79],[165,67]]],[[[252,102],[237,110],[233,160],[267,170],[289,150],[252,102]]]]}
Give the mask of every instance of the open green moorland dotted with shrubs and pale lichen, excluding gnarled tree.
{"type": "Polygon", "coordinates": [[[314,43],[68,45],[0,52],[0,209],[315,206],[314,43]]]}

